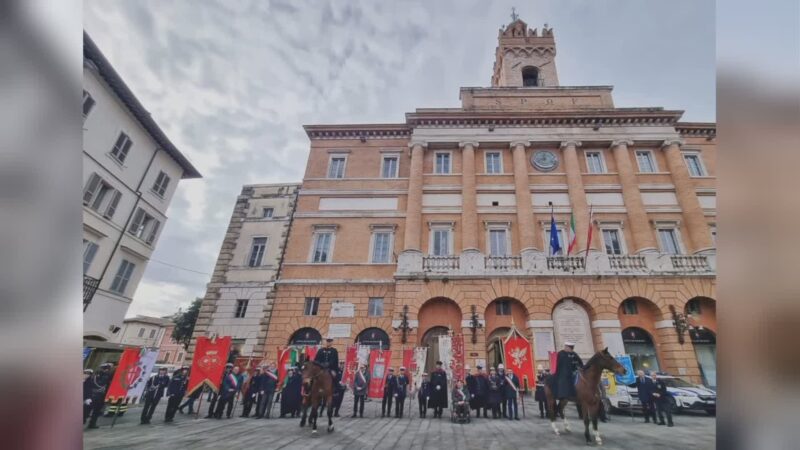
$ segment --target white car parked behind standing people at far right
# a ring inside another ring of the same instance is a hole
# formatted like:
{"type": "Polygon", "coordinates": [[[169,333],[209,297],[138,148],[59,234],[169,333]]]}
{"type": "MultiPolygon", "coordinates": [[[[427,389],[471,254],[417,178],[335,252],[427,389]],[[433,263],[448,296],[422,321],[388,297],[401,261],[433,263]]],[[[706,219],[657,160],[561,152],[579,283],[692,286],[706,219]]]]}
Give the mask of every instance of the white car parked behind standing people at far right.
{"type": "MultiPolygon", "coordinates": [[[[717,393],[714,390],[670,375],[659,375],[658,379],[664,380],[667,384],[667,391],[672,394],[670,402],[673,412],[705,411],[712,416],[717,413],[717,393]]],[[[617,385],[616,393],[609,395],[608,401],[612,411],[629,409],[641,411],[642,409],[637,389],[623,384],[617,385]]]]}

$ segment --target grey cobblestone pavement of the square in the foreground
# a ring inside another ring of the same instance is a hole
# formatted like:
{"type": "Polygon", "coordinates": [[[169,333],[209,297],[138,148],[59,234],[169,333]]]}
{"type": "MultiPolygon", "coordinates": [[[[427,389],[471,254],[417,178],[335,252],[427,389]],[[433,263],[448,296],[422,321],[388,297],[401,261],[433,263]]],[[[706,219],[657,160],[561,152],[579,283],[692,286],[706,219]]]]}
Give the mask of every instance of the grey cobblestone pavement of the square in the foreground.
{"type": "MultiPolygon", "coordinates": [[[[349,393],[348,393],[349,394],[349,393]]],[[[351,397],[348,395],[348,397],[351,397]]],[[[201,418],[178,414],[175,422],[166,424],[161,401],[152,425],[139,425],[139,407],[131,407],[111,428],[111,418],[99,421],[100,429],[86,430],[87,449],[565,449],[586,448],[583,424],[578,422],[574,406],[568,406],[567,419],[572,431],[555,436],[546,419],[540,419],[536,404],[526,401],[527,418],[520,421],[475,419],[469,424],[451,423],[449,411],[444,418],[419,419],[416,402],[413,417],[380,418],[380,401],[366,404],[363,419],[351,419],[352,401],[348,398],[340,415],[334,418],[335,431],[326,433],[326,418],[320,418],[316,437],[308,428],[299,427],[299,419],[239,418],[241,406],[233,418],[203,419],[207,412],[203,402],[201,418]]],[[[276,406],[276,410],[277,410],[276,406]]],[[[408,402],[406,403],[408,410],[408,402]]],[[[520,414],[522,411],[520,410],[520,414]]],[[[559,424],[561,429],[561,424],[559,424]]],[[[643,423],[641,416],[613,414],[611,421],[600,423],[603,448],[608,449],[711,449],[715,447],[714,417],[696,414],[675,416],[675,427],[643,423]]]]}

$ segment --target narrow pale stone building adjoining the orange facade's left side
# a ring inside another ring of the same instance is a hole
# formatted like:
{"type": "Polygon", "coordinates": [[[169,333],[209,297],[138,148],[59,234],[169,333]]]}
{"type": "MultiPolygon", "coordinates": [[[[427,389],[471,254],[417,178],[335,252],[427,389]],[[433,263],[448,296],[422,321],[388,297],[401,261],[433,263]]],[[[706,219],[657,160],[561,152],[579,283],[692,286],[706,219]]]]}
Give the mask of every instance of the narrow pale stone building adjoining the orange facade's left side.
{"type": "MultiPolygon", "coordinates": [[[[231,336],[233,352],[261,356],[298,184],[257,184],[242,188],[193,336],[231,336]]],[[[194,342],[189,346],[191,359],[194,342]]]]}

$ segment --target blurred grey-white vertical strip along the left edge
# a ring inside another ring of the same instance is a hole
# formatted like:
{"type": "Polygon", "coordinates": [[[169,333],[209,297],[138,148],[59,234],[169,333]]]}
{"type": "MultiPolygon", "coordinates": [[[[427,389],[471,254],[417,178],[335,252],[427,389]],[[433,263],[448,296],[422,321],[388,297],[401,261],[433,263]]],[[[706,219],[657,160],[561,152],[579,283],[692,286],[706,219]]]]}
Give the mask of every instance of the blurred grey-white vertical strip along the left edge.
{"type": "Polygon", "coordinates": [[[82,4],[0,2],[0,433],[81,448],[82,4]]]}

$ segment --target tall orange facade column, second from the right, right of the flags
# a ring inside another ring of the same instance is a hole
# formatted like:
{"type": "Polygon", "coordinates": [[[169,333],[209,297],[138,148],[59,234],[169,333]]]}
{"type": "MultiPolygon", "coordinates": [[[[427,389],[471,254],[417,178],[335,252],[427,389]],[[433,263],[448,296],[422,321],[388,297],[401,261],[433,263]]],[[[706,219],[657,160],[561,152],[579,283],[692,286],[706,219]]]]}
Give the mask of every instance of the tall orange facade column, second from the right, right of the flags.
{"type": "Polygon", "coordinates": [[[647,219],[642,194],[639,192],[639,181],[636,179],[636,173],[628,153],[629,145],[633,145],[633,142],[614,141],[611,143],[611,150],[614,153],[614,161],[617,163],[617,172],[620,184],[622,184],[622,200],[630,220],[633,246],[636,253],[655,252],[658,251],[658,245],[653,228],[647,219]]]}

